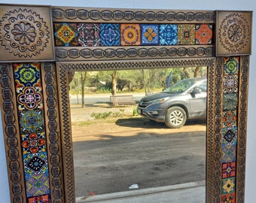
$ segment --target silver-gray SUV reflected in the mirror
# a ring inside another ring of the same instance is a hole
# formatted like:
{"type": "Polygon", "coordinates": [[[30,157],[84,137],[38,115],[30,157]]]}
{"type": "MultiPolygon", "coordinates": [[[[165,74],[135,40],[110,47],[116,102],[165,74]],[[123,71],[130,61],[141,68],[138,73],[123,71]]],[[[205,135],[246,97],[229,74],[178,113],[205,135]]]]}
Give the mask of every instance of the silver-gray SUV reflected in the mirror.
{"type": "Polygon", "coordinates": [[[189,78],[163,92],[146,95],[139,102],[137,111],[143,117],[178,129],[189,119],[206,118],[206,94],[206,77],[189,78]]]}

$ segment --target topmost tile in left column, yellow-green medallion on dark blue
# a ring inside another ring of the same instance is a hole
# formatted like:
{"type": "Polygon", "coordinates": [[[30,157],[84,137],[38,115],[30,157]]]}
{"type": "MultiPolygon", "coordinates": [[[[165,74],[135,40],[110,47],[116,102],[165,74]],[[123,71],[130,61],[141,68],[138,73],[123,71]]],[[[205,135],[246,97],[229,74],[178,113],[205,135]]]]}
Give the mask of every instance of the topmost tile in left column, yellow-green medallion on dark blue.
{"type": "Polygon", "coordinates": [[[39,63],[15,63],[14,77],[16,87],[41,86],[39,63]]]}

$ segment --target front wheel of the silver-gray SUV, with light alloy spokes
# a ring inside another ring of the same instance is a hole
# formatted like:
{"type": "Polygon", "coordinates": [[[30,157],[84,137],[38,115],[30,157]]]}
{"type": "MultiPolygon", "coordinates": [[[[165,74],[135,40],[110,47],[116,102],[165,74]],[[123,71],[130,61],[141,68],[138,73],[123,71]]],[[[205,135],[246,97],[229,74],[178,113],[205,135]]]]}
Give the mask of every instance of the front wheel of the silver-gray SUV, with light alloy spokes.
{"type": "Polygon", "coordinates": [[[172,107],[169,108],[166,112],[166,126],[170,129],[179,129],[187,121],[187,114],[183,108],[172,107]]]}

